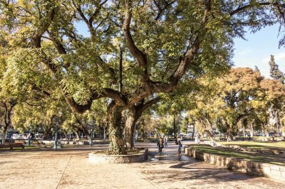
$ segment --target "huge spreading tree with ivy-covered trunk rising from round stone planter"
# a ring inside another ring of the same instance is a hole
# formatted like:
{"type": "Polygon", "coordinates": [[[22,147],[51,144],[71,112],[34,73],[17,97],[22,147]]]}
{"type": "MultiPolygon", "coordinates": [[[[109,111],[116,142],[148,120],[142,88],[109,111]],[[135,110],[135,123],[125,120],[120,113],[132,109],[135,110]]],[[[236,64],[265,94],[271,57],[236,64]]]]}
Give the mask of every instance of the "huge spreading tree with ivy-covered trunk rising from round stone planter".
{"type": "Polygon", "coordinates": [[[73,112],[110,99],[110,153],[125,153],[124,110],[133,117],[127,123],[136,121],[180,81],[228,68],[233,38],[243,37],[244,27],[258,31],[280,21],[284,10],[283,1],[236,0],[1,0],[0,6],[9,64],[52,73],[53,88],[73,112]],[[88,35],[78,32],[82,24],[88,35]]]}

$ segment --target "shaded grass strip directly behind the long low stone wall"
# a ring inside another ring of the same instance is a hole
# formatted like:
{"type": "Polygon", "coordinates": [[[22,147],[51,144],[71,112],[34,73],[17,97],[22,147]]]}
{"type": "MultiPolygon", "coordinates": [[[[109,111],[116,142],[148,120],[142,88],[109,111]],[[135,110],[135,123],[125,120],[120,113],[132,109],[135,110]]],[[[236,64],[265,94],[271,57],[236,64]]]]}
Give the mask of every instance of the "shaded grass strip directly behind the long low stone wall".
{"type": "Polygon", "coordinates": [[[271,163],[279,166],[285,166],[285,158],[276,154],[264,154],[246,151],[231,151],[220,147],[212,147],[207,145],[190,145],[191,148],[197,149],[204,153],[212,153],[219,156],[227,156],[231,158],[239,158],[249,161],[259,161],[263,163],[271,163]]]}

